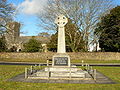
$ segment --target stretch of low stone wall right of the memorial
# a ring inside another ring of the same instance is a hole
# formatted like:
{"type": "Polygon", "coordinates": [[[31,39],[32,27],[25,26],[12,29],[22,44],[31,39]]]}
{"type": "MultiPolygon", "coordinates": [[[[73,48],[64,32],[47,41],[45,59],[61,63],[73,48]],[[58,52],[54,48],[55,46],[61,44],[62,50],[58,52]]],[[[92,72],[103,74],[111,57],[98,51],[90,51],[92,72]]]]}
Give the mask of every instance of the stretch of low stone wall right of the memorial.
{"type": "Polygon", "coordinates": [[[113,52],[79,52],[70,53],[70,56],[75,60],[120,60],[120,53],[113,52]]]}

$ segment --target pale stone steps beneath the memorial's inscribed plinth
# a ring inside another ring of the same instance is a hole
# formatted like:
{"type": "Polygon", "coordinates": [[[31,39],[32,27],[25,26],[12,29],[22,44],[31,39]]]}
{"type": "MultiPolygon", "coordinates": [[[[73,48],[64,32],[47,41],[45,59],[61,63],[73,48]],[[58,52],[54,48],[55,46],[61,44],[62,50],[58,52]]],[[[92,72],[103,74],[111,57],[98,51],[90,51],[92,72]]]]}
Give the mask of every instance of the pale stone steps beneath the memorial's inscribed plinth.
{"type": "Polygon", "coordinates": [[[46,67],[44,70],[37,71],[33,76],[50,78],[85,78],[88,72],[75,67],[46,67]]]}

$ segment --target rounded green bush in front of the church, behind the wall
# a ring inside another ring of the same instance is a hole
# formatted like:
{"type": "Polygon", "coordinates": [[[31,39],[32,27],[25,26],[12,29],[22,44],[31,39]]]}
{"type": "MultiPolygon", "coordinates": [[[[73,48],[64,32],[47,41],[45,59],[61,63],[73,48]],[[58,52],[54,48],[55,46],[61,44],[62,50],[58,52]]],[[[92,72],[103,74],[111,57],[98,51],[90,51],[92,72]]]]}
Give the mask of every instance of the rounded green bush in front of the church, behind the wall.
{"type": "Polygon", "coordinates": [[[28,43],[24,44],[24,50],[26,52],[38,52],[41,51],[41,49],[42,49],[42,45],[40,41],[34,39],[34,37],[31,38],[28,43]]]}

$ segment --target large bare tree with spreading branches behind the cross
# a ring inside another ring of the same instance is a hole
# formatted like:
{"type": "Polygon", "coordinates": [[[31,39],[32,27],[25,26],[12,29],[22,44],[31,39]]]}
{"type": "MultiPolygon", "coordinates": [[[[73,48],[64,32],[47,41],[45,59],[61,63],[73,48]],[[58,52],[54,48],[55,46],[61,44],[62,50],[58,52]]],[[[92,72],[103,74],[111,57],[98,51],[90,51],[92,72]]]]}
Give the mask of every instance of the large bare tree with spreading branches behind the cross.
{"type": "Polygon", "coordinates": [[[63,14],[70,18],[85,40],[87,50],[94,39],[96,23],[112,7],[111,0],[48,0],[45,12],[40,13],[38,17],[42,23],[40,26],[46,30],[57,30],[54,24],[57,15],[63,14]]]}

